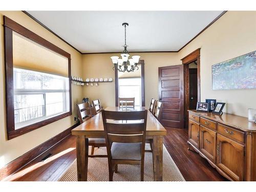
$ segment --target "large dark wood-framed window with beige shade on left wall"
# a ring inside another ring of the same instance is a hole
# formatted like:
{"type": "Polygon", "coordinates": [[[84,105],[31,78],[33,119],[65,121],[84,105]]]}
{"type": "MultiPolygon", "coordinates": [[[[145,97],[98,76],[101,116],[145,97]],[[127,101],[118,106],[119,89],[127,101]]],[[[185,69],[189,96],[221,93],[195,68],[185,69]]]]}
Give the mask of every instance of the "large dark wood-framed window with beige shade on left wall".
{"type": "Polygon", "coordinates": [[[8,139],[72,115],[70,54],[4,16],[8,139]]]}

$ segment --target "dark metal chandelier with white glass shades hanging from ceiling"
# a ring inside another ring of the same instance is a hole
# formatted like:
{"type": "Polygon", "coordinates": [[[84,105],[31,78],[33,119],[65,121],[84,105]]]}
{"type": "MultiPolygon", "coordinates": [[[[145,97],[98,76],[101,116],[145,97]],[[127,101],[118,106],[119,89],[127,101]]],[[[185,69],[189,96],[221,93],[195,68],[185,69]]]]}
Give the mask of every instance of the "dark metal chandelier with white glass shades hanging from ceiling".
{"type": "Polygon", "coordinates": [[[123,23],[122,26],[124,26],[124,50],[123,52],[120,54],[121,58],[119,58],[118,56],[112,56],[110,57],[112,59],[113,62],[113,70],[118,70],[120,72],[133,72],[134,70],[138,70],[139,67],[138,62],[140,59],[140,56],[138,55],[134,55],[132,56],[132,58],[129,59],[129,52],[127,51],[127,45],[126,45],[126,26],[129,26],[129,24],[127,23],[123,23]]]}

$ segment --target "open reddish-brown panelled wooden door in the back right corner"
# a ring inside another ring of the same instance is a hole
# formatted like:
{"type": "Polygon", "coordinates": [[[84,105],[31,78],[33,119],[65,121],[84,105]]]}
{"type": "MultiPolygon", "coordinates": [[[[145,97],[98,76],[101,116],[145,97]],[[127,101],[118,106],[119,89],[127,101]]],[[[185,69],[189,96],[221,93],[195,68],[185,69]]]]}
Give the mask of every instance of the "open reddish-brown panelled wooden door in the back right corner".
{"type": "Polygon", "coordinates": [[[159,100],[163,102],[160,122],[163,126],[183,128],[183,65],[158,68],[159,100]]]}

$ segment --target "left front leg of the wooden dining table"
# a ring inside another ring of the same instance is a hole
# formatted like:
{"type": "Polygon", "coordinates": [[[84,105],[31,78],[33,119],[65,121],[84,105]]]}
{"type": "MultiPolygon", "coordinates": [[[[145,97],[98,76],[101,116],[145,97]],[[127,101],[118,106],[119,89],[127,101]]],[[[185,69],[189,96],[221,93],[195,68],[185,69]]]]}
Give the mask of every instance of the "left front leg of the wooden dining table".
{"type": "Polygon", "coordinates": [[[77,181],[87,181],[88,139],[84,135],[76,137],[77,181]]]}

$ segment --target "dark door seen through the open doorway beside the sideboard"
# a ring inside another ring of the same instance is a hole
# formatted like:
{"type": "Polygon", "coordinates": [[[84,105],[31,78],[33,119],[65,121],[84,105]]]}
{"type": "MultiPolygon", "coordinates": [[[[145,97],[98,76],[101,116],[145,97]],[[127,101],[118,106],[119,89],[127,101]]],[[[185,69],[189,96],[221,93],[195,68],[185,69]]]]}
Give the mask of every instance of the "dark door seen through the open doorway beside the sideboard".
{"type": "Polygon", "coordinates": [[[189,69],[189,110],[197,109],[197,69],[189,69]]]}

